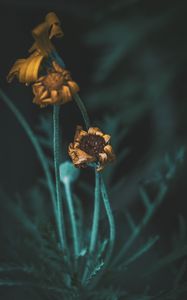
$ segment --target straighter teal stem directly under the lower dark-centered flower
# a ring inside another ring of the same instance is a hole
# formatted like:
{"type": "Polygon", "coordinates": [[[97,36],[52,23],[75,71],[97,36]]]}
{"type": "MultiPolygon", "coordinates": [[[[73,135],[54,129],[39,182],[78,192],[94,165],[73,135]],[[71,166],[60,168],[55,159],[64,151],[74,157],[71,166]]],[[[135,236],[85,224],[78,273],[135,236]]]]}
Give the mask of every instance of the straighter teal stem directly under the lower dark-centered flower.
{"type": "Polygon", "coordinates": [[[99,228],[99,213],[100,213],[100,174],[95,168],[95,200],[94,200],[94,213],[91,230],[91,239],[89,253],[93,254],[96,248],[98,228],[99,228]]]}

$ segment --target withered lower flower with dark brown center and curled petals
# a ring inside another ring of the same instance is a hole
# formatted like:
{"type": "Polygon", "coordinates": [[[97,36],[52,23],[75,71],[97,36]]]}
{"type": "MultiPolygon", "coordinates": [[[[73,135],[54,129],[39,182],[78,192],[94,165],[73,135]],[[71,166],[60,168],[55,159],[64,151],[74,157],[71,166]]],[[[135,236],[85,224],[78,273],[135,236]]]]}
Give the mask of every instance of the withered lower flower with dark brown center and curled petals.
{"type": "Polygon", "coordinates": [[[97,127],[88,131],[77,126],[74,142],[69,145],[68,153],[76,167],[84,168],[89,163],[97,163],[97,171],[115,159],[112,146],[109,144],[110,135],[104,134],[97,127]]]}

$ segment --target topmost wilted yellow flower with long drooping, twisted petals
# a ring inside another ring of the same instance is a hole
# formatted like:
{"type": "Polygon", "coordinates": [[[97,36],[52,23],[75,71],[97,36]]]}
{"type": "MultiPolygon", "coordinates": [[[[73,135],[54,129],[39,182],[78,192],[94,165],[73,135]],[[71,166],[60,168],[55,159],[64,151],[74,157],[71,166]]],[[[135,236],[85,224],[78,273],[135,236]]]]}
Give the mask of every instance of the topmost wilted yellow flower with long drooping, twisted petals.
{"type": "Polygon", "coordinates": [[[35,39],[35,43],[29,50],[31,55],[28,58],[18,59],[15,62],[7,76],[8,82],[11,82],[15,76],[20,82],[25,84],[35,82],[38,79],[44,58],[47,58],[55,49],[51,39],[63,36],[60,21],[55,13],[49,13],[45,17],[45,21],[34,28],[32,36],[35,39]]]}

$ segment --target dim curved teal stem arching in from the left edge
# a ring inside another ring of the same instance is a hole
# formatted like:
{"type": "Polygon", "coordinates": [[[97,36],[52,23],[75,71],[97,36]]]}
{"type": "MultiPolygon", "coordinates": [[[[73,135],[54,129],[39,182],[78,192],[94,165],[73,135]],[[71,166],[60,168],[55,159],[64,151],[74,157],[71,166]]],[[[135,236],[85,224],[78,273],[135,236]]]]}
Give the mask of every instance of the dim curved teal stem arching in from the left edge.
{"type": "Polygon", "coordinates": [[[52,204],[53,204],[53,208],[54,208],[54,212],[55,212],[55,216],[56,216],[55,187],[54,187],[54,183],[53,183],[53,179],[51,176],[49,165],[47,164],[47,160],[45,158],[45,154],[44,154],[35,134],[33,133],[31,127],[29,126],[28,122],[24,118],[24,116],[21,114],[21,112],[18,110],[18,108],[13,104],[13,102],[9,99],[9,97],[7,97],[7,95],[1,89],[0,89],[0,97],[2,98],[4,103],[8,106],[8,108],[11,110],[11,112],[15,115],[16,119],[18,120],[19,124],[24,129],[24,131],[26,132],[29,140],[31,141],[31,143],[36,151],[36,154],[41,162],[41,165],[42,165],[42,168],[43,168],[46,180],[47,180],[47,184],[49,187],[49,192],[51,195],[52,204]]]}

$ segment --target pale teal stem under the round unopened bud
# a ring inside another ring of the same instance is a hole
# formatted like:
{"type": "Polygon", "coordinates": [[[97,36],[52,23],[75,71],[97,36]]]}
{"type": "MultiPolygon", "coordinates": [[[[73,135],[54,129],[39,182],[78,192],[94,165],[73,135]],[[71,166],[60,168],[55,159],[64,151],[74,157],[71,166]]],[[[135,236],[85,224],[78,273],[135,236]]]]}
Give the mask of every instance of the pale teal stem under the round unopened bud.
{"type": "Polygon", "coordinates": [[[69,211],[69,216],[70,216],[74,256],[75,256],[75,260],[76,260],[79,256],[79,239],[78,239],[78,232],[77,232],[77,226],[76,226],[76,217],[75,217],[75,210],[74,210],[74,205],[73,205],[71,183],[68,178],[67,178],[67,180],[64,180],[63,183],[64,183],[64,187],[65,187],[67,206],[68,206],[68,211],[69,211]]]}

